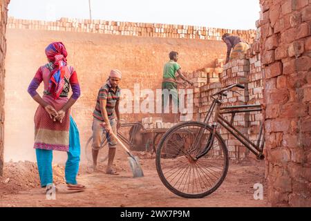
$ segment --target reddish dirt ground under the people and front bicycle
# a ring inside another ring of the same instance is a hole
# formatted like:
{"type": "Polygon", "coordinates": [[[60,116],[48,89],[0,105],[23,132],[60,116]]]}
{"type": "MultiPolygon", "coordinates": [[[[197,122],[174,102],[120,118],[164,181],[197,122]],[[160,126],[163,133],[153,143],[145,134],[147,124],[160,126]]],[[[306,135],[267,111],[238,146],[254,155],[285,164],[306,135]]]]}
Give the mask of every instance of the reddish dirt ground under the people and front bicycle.
{"type": "Polygon", "coordinates": [[[8,162],[0,177],[0,206],[269,206],[263,162],[230,162],[223,184],[211,195],[185,199],[174,195],[160,181],[156,163],[149,153],[135,152],[140,157],[144,177],[133,178],[126,154],[117,151],[115,168],[120,175],[99,171],[88,173],[81,164],[77,180],[86,191],[71,193],[64,186],[64,166],[53,165],[54,182],[59,191],[56,200],[47,200],[45,189],[39,187],[37,166],[33,162],[8,162]],[[264,186],[263,200],[254,200],[255,183],[264,186]]]}

